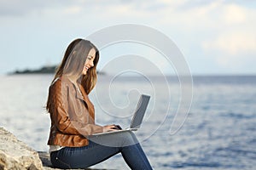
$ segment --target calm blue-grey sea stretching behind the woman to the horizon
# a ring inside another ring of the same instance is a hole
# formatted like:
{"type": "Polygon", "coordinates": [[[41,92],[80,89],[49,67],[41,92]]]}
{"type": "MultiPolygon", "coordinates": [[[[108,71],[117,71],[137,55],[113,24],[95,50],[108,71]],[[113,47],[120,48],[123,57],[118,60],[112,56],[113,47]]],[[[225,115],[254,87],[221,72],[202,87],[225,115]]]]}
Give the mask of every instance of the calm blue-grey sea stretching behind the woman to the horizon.
{"type": "MultiPolygon", "coordinates": [[[[52,77],[1,76],[0,126],[35,150],[48,150],[44,105],[52,77]]],[[[170,128],[181,99],[180,84],[175,77],[166,80],[99,77],[90,94],[96,122],[128,127],[138,95],[150,94],[143,127],[136,134],[154,169],[256,168],[256,77],[194,77],[189,115],[180,117],[185,122],[174,134],[170,128]]],[[[129,169],[120,155],[94,167],[129,169]]]]}

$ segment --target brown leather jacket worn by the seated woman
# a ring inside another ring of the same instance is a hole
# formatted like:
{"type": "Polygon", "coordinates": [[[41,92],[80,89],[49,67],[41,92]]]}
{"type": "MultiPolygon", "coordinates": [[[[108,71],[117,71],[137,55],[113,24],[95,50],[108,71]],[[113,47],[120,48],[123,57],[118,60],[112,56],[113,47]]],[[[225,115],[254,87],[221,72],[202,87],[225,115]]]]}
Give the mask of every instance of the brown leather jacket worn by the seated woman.
{"type": "Polygon", "coordinates": [[[94,106],[84,88],[64,77],[49,87],[49,114],[49,145],[88,145],[86,136],[103,131],[102,126],[95,124],[94,106]]]}

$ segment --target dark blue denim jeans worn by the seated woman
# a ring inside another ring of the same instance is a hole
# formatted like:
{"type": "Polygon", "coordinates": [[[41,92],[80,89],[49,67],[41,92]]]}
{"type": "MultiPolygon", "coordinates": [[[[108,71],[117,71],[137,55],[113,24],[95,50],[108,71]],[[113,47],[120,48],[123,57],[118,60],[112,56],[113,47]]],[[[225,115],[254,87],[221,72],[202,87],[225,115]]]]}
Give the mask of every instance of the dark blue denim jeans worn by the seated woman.
{"type": "Polygon", "coordinates": [[[65,147],[50,153],[50,161],[59,168],[86,168],[121,153],[131,169],[152,169],[134,133],[123,132],[91,137],[89,145],[65,147]]]}

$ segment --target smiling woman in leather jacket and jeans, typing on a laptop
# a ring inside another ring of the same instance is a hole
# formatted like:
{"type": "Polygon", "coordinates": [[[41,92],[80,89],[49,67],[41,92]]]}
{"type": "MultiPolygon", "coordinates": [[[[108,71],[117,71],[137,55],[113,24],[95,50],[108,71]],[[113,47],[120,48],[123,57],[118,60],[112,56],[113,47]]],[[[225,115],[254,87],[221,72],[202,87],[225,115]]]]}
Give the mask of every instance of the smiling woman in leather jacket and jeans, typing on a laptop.
{"type": "Polygon", "coordinates": [[[90,42],[76,39],[67,47],[49,87],[50,161],[59,168],[85,168],[121,153],[131,169],[152,169],[134,133],[113,133],[115,125],[95,124],[94,106],[87,94],[96,85],[99,51],[90,42]]]}

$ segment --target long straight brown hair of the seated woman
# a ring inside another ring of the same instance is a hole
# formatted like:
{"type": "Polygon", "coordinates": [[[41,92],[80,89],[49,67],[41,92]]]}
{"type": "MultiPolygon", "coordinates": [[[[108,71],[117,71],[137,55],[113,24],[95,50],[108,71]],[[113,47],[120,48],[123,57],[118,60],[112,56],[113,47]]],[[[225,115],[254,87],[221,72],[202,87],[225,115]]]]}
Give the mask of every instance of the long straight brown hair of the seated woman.
{"type": "MultiPolygon", "coordinates": [[[[90,91],[96,85],[96,65],[98,63],[99,57],[100,54],[98,49],[90,41],[81,38],[73,40],[73,42],[71,42],[67,47],[67,50],[61,61],[61,65],[59,65],[57,68],[52,83],[63,75],[74,76],[77,77],[77,80],[79,80],[81,85],[84,87],[85,93],[90,94],[90,91]],[[92,48],[96,50],[96,56],[93,61],[94,66],[86,72],[86,75],[82,75],[85,60],[90,52],[90,49],[92,48]]],[[[49,109],[48,106],[49,99],[47,100],[46,109],[49,109]]]]}

